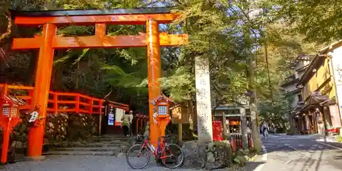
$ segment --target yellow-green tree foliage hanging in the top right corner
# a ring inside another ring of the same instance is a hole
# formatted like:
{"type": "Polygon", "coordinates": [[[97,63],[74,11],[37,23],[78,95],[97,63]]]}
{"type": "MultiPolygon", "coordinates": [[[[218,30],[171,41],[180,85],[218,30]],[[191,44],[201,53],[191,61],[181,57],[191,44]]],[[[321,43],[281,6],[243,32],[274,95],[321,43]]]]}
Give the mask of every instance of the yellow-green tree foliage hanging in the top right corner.
{"type": "Polygon", "coordinates": [[[341,7],[338,0],[263,0],[272,20],[282,19],[291,31],[302,34],[308,42],[330,43],[342,36],[341,7]]]}

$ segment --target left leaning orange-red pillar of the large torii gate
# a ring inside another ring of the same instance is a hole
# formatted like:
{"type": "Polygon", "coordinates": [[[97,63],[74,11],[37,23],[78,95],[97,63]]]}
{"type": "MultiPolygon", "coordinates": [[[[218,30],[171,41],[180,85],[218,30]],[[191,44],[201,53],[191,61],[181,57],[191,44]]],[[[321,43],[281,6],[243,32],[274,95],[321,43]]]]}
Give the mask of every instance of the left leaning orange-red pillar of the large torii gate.
{"type": "MultiPolygon", "coordinates": [[[[51,72],[53,67],[53,36],[56,35],[56,26],[44,24],[42,30],[42,42],[40,42],[38,66],[36,70],[36,84],[34,87],[34,98],[32,107],[38,105],[39,117],[47,115],[47,103],[49,101],[49,89],[51,83],[51,72]]],[[[29,131],[28,153],[31,158],[42,155],[43,138],[45,131],[45,119],[38,127],[32,127],[29,131]]]]}

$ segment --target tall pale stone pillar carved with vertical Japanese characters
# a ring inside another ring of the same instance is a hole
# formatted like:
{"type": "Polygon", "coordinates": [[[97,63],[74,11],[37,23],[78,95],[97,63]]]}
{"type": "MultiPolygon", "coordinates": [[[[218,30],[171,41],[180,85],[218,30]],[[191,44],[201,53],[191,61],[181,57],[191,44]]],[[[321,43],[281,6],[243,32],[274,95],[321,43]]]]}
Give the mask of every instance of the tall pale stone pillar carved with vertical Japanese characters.
{"type": "Polygon", "coordinates": [[[195,73],[198,141],[201,143],[213,142],[208,58],[196,57],[195,73]]]}

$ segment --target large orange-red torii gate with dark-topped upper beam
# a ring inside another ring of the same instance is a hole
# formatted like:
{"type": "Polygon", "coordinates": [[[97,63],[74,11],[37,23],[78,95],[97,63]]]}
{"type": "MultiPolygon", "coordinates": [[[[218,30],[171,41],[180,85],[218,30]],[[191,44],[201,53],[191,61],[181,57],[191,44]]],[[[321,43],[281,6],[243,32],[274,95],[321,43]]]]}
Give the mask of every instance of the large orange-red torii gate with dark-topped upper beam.
{"type": "MultiPolygon", "coordinates": [[[[176,18],[168,8],[135,8],[106,10],[14,11],[16,25],[43,25],[42,36],[14,38],[12,49],[39,49],[33,104],[39,106],[40,117],[47,114],[47,103],[53,68],[54,49],[147,47],[148,96],[161,93],[161,46],[179,46],[187,43],[187,35],[159,34],[159,23],[170,23],[176,18]],[[107,36],[106,25],[146,25],[146,34],[138,36],[107,36]],[[57,25],[95,25],[94,36],[57,36],[57,25]]],[[[35,107],[36,105],[33,105],[35,107]]],[[[157,142],[159,127],[153,123],[153,105],[149,105],[150,140],[157,142]]],[[[28,155],[42,154],[44,123],[29,132],[28,155]]]]}

